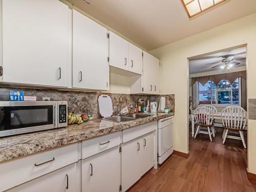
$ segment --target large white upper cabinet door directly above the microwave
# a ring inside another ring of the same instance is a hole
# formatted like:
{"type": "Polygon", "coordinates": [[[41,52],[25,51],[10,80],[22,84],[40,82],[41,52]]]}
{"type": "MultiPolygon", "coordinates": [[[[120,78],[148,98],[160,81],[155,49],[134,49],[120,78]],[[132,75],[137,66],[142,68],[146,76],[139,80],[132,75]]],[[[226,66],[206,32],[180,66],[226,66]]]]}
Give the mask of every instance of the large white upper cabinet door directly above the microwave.
{"type": "Polygon", "coordinates": [[[68,87],[69,7],[3,0],[3,80],[68,87]]]}

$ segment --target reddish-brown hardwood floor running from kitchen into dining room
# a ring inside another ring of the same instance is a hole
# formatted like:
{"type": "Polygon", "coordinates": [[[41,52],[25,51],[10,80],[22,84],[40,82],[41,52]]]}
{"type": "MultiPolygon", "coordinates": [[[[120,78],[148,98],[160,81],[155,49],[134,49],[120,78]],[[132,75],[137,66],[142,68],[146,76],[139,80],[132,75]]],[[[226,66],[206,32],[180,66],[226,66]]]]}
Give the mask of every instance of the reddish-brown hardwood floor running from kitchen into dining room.
{"type": "Polygon", "coordinates": [[[212,142],[208,135],[200,134],[194,139],[189,132],[188,159],[171,156],[158,170],[148,172],[129,192],[256,191],[256,183],[246,176],[247,150],[242,141],[227,139],[223,145],[222,129],[216,130],[217,136],[212,142]]]}

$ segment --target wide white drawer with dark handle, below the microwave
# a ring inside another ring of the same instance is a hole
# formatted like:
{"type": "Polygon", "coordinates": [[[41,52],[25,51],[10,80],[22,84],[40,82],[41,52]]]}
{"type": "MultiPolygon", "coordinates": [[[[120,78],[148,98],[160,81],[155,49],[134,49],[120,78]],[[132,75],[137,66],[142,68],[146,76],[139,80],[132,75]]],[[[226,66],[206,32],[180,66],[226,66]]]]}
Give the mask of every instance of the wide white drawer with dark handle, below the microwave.
{"type": "Polygon", "coordinates": [[[0,191],[50,173],[77,160],[77,143],[74,143],[0,163],[0,191]]]}

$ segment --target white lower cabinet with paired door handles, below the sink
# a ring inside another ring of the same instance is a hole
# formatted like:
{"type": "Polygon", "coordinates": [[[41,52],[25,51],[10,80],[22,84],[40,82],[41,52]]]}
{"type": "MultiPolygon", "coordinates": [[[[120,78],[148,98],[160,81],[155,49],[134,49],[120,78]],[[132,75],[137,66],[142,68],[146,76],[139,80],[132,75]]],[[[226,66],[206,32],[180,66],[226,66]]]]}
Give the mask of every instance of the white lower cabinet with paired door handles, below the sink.
{"type": "Polygon", "coordinates": [[[154,166],[154,134],[152,132],[122,143],[122,191],[129,189],[154,166]]]}

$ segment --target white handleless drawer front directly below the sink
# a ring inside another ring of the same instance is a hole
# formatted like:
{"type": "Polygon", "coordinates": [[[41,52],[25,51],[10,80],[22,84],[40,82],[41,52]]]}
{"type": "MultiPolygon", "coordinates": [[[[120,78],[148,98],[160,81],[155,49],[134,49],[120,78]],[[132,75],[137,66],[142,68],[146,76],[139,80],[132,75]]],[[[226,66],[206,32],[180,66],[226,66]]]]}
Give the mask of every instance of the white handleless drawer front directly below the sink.
{"type": "Polygon", "coordinates": [[[153,132],[157,129],[157,121],[142,124],[132,127],[130,129],[123,130],[123,143],[131,141],[137,137],[153,132]]]}

